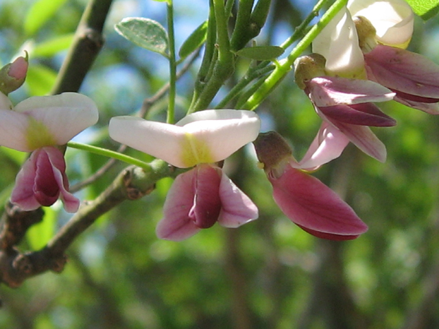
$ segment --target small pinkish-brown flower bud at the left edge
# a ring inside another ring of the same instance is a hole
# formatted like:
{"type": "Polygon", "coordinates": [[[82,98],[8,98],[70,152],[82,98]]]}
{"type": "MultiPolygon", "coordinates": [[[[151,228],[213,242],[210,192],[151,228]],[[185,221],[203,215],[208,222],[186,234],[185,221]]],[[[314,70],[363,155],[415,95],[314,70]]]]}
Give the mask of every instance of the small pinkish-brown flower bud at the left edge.
{"type": "Polygon", "coordinates": [[[27,53],[26,57],[19,57],[14,62],[6,64],[0,69],[0,91],[1,93],[8,95],[12,91],[18,89],[23,85],[26,79],[27,66],[27,53]]]}

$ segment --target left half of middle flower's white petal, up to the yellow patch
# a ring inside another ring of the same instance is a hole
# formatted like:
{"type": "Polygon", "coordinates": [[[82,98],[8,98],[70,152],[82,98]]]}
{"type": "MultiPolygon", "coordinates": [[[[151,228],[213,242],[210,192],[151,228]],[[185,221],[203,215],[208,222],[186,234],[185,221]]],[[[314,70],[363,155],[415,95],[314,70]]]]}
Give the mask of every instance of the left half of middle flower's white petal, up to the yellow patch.
{"type": "Polygon", "coordinates": [[[187,168],[182,153],[185,132],[182,127],[138,117],[114,117],[108,134],[119,143],[165,160],[175,167],[187,168]]]}

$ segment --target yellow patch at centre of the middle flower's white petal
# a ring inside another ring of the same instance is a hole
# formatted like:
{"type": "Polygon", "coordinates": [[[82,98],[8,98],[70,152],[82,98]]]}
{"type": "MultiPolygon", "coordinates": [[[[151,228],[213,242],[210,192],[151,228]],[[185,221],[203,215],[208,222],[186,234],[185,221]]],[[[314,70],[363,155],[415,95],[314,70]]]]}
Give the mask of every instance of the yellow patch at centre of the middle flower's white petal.
{"type": "Polygon", "coordinates": [[[213,156],[209,145],[204,141],[200,141],[193,134],[186,133],[185,138],[182,141],[182,161],[187,165],[187,167],[193,167],[200,163],[212,163],[213,156]]]}

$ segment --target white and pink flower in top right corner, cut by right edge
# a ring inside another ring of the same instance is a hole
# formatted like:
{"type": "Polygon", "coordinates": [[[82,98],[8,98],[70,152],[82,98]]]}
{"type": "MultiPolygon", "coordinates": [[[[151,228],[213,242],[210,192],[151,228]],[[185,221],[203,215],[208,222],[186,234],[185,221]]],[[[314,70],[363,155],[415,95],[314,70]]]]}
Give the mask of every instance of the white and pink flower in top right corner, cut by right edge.
{"type": "Polygon", "coordinates": [[[439,66],[405,50],[414,14],[405,1],[351,1],[359,44],[369,80],[396,93],[394,100],[429,114],[439,114],[439,66]]]}

